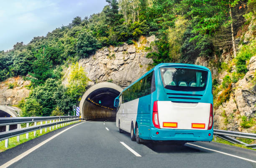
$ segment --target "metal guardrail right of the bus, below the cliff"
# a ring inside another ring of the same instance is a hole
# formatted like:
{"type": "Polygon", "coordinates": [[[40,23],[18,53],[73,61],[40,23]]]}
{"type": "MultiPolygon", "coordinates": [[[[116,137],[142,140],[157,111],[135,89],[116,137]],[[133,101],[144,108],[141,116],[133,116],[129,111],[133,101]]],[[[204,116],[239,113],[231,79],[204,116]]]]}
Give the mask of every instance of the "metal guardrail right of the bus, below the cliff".
{"type": "Polygon", "coordinates": [[[256,149],[256,144],[247,144],[244,143],[240,140],[237,140],[233,137],[242,137],[242,138],[248,138],[248,139],[254,139],[256,140],[256,134],[253,133],[246,133],[246,132],[235,132],[235,131],[226,131],[226,130],[213,130],[213,134],[216,135],[217,137],[222,138],[223,140],[227,140],[230,143],[234,144],[243,144],[246,147],[256,149]]]}

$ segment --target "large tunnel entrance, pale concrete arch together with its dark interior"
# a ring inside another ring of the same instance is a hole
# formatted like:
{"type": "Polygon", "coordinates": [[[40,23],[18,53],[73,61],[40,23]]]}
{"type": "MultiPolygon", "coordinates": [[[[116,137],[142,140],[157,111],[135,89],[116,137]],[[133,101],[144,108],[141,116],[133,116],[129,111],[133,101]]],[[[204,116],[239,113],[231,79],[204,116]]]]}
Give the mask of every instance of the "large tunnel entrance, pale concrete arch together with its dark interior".
{"type": "Polygon", "coordinates": [[[85,120],[115,117],[115,97],[123,88],[111,82],[101,82],[90,87],[79,103],[81,117],[85,120]]]}

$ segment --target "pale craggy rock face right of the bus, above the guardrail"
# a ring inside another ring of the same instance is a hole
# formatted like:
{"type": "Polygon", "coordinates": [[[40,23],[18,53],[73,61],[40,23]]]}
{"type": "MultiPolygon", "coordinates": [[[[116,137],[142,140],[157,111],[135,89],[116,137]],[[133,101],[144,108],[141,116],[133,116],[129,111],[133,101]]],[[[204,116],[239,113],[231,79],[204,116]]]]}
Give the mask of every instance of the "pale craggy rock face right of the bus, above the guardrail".
{"type": "Polygon", "coordinates": [[[233,84],[233,94],[229,101],[223,103],[215,111],[214,127],[220,130],[255,132],[256,125],[250,128],[241,127],[241,117],[256,118],[256,84],[253,78],[256,72],[256,56],[251,57],[248,64],[249,71],[233,84]]]}

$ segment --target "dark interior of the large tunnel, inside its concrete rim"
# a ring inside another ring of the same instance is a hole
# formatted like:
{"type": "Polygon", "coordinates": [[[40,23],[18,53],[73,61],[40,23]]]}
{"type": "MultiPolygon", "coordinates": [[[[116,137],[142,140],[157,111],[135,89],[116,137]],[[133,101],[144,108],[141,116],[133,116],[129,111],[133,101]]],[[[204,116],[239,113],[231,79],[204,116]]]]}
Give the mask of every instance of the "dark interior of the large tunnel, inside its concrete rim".
{"type": "Polygon", "coordinates": [[[115,117],[114,100],[119,94],[118,90],[110,87],[102,87],[90,92],[83,106],[85,120],[115,117]]]}

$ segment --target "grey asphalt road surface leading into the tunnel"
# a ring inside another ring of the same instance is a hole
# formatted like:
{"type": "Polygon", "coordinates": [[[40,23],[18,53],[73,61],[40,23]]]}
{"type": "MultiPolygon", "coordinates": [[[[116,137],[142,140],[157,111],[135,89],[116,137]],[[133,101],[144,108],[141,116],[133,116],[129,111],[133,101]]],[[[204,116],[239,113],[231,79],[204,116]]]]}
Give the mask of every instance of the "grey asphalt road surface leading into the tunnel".
{"type": "MultiPolygon", "coordinates": [[[[50,132],[0,153],[0,165],[69,127],[72,126],[50,132]]],[[[131,141],[130,134],[118,132],[115,121],[102,119],[82,122],[70,128],[13,163],[10,167],[256,168],[256,163],[200,147],[256,160],[255,150],[219,143],[195,142],[184,146],[164,143],[137,144],[131,141]],[[123,142],[141,157],[136,156],[136,153],[132,153],[120,142],[123,142]]]]}

